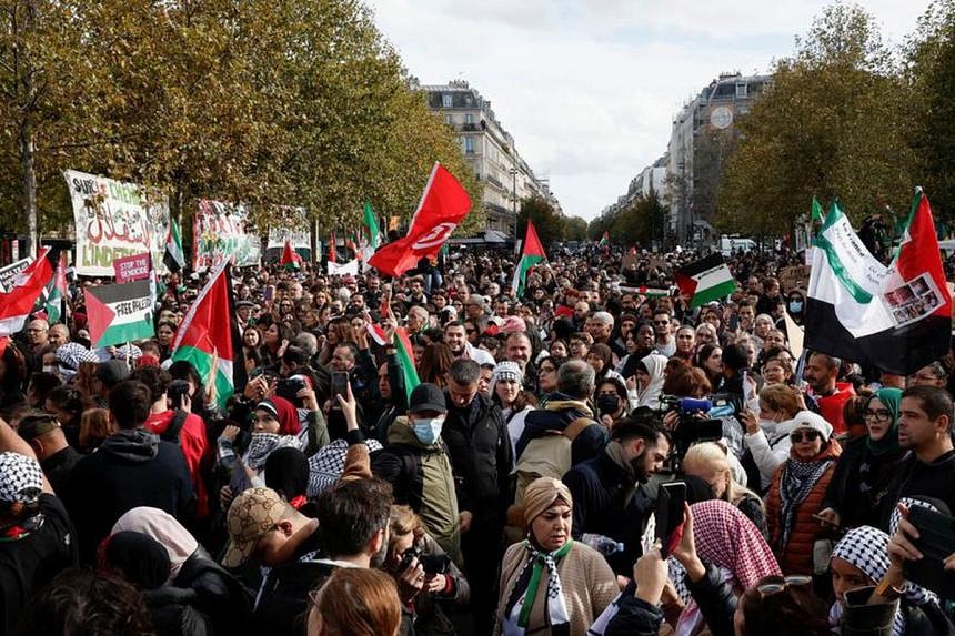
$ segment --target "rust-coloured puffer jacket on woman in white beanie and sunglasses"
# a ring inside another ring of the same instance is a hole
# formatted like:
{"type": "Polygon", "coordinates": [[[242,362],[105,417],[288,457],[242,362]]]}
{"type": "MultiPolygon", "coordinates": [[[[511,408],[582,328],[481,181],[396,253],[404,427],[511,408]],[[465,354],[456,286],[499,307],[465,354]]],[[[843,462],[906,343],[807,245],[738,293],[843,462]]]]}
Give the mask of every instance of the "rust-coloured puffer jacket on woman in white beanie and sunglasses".
{"type": "MultiPolygon", "coordinates": [[[[830,442],[828,447],[825,448],[817,458],[835,460],[840,456],[841,452],[842,447],[838,445],[838,442],[833,440],[830,442]]],[[[824,538],[824,531],[820,525],[820,522],[813,518],[813,515],[817,514],[823,507],[823,499],[826,495],[826,488],[828,488],[830,482],[832,481],[836,463],[834,461],[830,462],[830,465],[826,467],[822,477],[820,477],[818,482],[813,486],[812,492],[796,508],[793,522],[794,527],[790,533],[790,542],[785,548],[783,548],[781,546],[783,541],[781,518],[783,502],[780,494],[780,487],[782,485],[783,471],[788,465],[790,461],[792,461],[792,458],[784,462],[778,468],[776,468],[776,472],[773,473],[773,483],[770,486],[770,493],[766,495],[766,522],[770,527],[770,545],[776,554],[780,567],[782,567],[784,573],[787,575],[812,575],[813,546],[816,539],[824,538]]]]}

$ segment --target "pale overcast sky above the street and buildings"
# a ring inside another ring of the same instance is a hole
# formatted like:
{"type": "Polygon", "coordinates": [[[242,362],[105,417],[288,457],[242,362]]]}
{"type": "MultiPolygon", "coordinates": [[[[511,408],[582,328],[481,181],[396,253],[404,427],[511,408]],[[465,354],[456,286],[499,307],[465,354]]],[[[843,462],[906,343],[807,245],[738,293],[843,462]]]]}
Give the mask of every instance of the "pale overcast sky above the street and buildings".
{"type": "MultiPolygon", "coordinates": [[[[366,0],[423,84],[464,79],[566,214],[587,220],[666,150],[671,121],[721,72],[766,72],[826,2],[366,0]]],[[[928,0],[861,2],[901,42],[928,0]]]]}

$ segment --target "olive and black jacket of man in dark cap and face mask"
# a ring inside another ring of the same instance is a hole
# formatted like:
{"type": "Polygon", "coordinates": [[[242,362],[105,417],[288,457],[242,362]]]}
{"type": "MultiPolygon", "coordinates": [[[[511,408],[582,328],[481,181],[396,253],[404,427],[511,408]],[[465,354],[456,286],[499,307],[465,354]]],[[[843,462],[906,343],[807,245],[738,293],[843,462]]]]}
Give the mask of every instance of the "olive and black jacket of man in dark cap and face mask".
{"type": "Polygon", "coordinates": [[[388,430],[388,446],[372,461],[372,471],[392,485],[394,503],[410,506],[444,552],[461,563],[458,497],[441,438],[424,445],[402,415],[388,430]]]}

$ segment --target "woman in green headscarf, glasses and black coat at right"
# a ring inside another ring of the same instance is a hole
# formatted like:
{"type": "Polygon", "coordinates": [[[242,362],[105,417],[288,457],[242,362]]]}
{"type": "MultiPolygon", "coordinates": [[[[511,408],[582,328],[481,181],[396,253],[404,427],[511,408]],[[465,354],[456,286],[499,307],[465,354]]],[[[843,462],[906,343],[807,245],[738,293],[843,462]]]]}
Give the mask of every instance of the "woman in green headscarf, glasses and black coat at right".
{"type": "Polygon", "coordinates": [[[846,444],[823,499],[821,517],[836,527],[878,526],[884,499],[908,452],[898,444],[901,388],[881,388],[863,414],[868,432],[846,444]]]}

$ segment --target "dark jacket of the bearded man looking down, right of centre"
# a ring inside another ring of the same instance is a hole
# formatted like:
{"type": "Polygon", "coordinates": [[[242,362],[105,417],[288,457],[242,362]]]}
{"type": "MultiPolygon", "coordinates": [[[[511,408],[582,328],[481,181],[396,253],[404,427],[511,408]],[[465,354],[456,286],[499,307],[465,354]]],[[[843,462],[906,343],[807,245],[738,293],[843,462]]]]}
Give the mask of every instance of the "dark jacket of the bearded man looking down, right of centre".
{"type": "Polygon", "coordinates": [[[643,488],[605,452],[572,467],[563,482],[574,499],[573,537],[580,539],[584,533],[593,533],[622,542],[624,551],[606,561],[614,573],[632,576],[633,564],[641,554],[640,537],[652,514],[643,488]]]}

